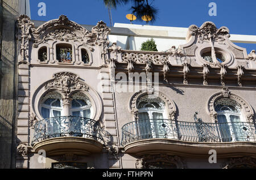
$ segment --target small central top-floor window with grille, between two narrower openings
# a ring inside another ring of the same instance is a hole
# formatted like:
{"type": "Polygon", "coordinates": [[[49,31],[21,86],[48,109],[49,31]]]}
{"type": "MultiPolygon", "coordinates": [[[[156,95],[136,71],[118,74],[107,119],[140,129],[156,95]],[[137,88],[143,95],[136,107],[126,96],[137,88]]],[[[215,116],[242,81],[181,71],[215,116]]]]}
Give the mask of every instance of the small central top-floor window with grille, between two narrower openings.
{"type": "Polygon", "coordinates": [[[71,63],[72,62],[72,45],[57,44],[56,45],[56,58],[59,62],[71,63]]]}

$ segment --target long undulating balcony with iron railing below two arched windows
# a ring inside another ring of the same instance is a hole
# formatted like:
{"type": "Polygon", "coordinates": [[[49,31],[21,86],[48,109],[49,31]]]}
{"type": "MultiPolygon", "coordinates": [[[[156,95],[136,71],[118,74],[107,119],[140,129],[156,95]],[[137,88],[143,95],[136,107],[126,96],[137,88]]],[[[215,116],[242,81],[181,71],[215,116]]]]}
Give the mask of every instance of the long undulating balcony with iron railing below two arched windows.
{"type": "Polygon", "coordinates": [[[122,127],[125,153],[175,153],[183,156],[256,156],[255,124],[246,122],[204,123],[146,119],[122,127]]]}

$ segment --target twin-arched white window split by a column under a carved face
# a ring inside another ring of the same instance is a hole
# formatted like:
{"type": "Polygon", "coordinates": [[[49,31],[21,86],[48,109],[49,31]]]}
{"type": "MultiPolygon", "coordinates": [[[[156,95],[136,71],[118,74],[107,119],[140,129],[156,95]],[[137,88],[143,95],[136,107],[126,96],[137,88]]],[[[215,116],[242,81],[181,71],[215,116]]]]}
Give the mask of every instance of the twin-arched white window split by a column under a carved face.
{"type": "Polygon", "coordinates": [[[86,118],[91,118],[93,113],[90,100],[84,93],[76,92],[71,96],[70,102],[68,108],[64,109],[61,95],[55,91],[43,97],[40,110],[47,127],[47,134],[53,137],[69,132],[69,136],[85,134],[86,122],[88,122],[86,118]]]}

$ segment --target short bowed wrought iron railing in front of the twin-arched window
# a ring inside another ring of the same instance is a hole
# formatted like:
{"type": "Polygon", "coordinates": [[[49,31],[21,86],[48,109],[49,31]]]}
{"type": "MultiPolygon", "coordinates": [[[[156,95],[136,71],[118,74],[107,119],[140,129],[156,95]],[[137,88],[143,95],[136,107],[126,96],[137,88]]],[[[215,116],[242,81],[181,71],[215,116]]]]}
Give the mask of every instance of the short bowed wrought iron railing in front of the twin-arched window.
{"type": "Polygon", "coordinates": [[[45,139],[78,136],[97,140],[105,144],[107,132],[100,127],[98,121],[84,117],[62,116],[40,120],[33,126],[34,138],[32,145],[45,139]]]}

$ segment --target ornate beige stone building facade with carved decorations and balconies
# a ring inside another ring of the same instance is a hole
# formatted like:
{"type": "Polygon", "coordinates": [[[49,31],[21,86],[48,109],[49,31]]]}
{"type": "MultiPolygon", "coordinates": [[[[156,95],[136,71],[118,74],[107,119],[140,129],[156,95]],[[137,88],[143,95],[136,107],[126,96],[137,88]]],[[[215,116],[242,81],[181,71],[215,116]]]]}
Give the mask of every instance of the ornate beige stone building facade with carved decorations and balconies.
{"type": "Polygon", "coordinates": [[[256,54],[228,28],[166,52],[110,45],[102,21],[18,28],[16,168],[256,168],[256,54]]]}

